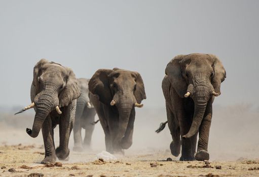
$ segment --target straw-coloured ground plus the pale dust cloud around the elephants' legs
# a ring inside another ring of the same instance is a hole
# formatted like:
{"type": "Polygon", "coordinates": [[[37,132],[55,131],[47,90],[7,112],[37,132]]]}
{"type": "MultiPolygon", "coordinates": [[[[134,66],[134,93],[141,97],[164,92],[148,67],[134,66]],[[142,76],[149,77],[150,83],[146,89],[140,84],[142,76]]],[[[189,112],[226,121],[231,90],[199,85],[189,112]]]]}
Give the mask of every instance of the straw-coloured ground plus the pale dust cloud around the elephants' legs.
{"type": "MultiPolygon", "coordinates": [[[[179,162],[179,157],[174,158],[171,155],[168,149],[172,139],[168,127],[160,134],[155,133],[160,122],[166,120],[164,108],[138,109],[133,145],[125,151],[125,156],[116,155],[118,160],[106,161],[103,164],[95,162],[96,154],[105,150],[103,130],[100,124],[96,124],[92,137],[93,151],[71,151],[68,161],[62,161],[62,166],[53,167],[40,164],[44,158],[42,134],[33,139],[25,132],[26,127],[32,126],[33,110],[31,113],[25,112],[15,116],[15,111],[6,114],[0,112],[0,176],[28,176],[31,173],[42,173],[44,176],[89,177],[259,176],[259,112],[251,111],[249,105],[214,110],[209,140],[210,164],[207,166],[205,162],[179,162]],[[164,161],[168,157],[174,161],[164,161]],[[154,167],[151,167],[151,163],[154,167]],[[22,168],[22,165],[26,166],[22,168]],[[215,169],[216,165],[220,165],[221,169],[215,169]]],[[[59,128],[56,127],[56,146],[59,144],[58,131],[59,128]]],[[[84,135],[84,131],[82,134],[84,135]]],[[[70,150],[72,147],[71,134],[70,150]]]]}

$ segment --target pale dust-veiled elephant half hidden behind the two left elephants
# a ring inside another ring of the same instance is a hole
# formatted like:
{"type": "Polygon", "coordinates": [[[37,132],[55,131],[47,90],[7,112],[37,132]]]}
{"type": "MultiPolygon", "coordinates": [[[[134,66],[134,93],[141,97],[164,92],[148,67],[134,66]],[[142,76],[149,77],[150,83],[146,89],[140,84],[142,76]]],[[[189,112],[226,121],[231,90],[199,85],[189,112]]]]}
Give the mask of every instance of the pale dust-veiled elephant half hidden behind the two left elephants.
{"type": "Polygon", "coordinates": [[[96,111],[90,103],[88,82],[89,79],[78,79],[81,95],[77,99],[75,124],[73,126],[73,138],[75,141],[73,151],[81,152],[84,148],[89,149],[95,124],[94,116],[96,111]],[[90,104],[90,105],[89,105],[90,104]],[[84,142],[82,141],[81,129],[85,129],[84,142]]]}

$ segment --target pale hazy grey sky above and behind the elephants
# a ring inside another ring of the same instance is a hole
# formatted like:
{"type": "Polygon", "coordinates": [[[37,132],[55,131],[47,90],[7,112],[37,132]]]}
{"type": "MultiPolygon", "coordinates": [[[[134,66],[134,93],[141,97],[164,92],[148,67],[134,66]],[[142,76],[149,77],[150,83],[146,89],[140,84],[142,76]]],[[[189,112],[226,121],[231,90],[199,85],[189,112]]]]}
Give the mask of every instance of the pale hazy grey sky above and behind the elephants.
{"type": "Polygon", "coordinates": [[[138,71],[147,107],[164,106],[161,81],[178,54],[217,55],[227,71],[217,105],[259,106],[259,1],[0,1],[0,106],[30,103],[41,58],[90,78],[138,71]]]}

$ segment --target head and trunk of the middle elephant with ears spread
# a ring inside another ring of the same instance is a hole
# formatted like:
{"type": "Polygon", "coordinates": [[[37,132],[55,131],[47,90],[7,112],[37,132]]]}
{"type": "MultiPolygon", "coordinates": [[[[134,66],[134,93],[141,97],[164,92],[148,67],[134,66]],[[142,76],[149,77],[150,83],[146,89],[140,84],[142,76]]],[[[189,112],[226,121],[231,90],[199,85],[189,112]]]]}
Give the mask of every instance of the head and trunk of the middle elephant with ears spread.
{"type": "Polygon", "coordinates": [[[97,95],[99,101],[110,109],[117,108],[119,122],[115,144],[120,144],[123,149],[129,148],[121,141],[126,137],[131,111],[134,107],[142,107],[141,101],[146,99],[140,74],[119,68],[99,69],[89,81],[89,91],[97,95]]]}

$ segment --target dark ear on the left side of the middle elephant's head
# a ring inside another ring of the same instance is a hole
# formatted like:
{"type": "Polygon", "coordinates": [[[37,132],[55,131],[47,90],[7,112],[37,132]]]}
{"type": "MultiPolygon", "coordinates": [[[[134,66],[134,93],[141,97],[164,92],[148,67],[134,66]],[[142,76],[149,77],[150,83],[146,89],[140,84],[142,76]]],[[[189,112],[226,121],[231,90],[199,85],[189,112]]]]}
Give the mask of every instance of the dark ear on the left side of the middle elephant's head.
{"type": "Polygon", "coordinates": [[[113,71],[111,69],[98,69],[88,83],[89,91],[94,95],[98,95],[99,100],[105,105],[110,105],[110,101],[113,99],[108,76],[113,71]]]}

